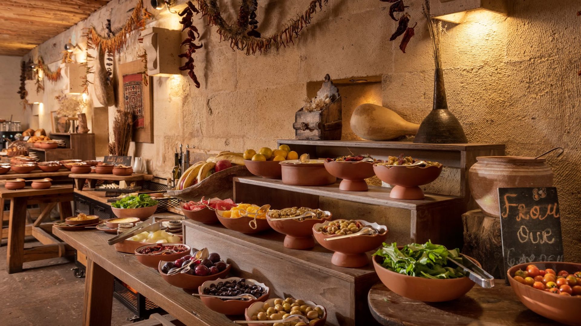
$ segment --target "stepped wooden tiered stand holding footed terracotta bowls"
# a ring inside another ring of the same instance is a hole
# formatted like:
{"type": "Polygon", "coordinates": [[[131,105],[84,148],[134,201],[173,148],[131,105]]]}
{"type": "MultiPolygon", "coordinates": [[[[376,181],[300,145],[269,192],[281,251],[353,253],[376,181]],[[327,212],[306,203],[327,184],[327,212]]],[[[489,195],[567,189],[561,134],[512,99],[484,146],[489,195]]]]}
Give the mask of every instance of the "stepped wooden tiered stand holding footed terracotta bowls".
{"type": "MultiPolygon", "coordinates": [[[[460,193],[457,195],[426,194],[423,200],[396,200],[389,197],[387,187],[370,186],[368,191],[339,190],[331,186],[290,186],[281,180],[256,176],[235,177],[234,200],[253,204],[271,204],[272,208],[304,206],[318,208],[319,196],[407,209],[410,211],[410,241],[461,247],[461,215],[472,202],[469,200],[468,169],[476,157],[504,155],[503,144],[415,144],[410,142],[371,142],[340,140],[279,140],[297,153],[309,153],[311,158],[338,157],[350,154],[370,154],[386,159],[389,155],[411,155],[441,162],[460,169],[460,193]]],[[[171,211],[177,212],[174,209],[171,211]]],[[[362,218],[364,216],[353,216],[362,218]]],[[[370,220],[369,222],[376,222],[370,220]]],[[[388,225],[389,227],[389,225],[388,225]]],[[[328,325],[373,325],[367,294],[378,281],[373,266],[344,268],[332,265],[332,252],[316,245],[310,250],[285,248],[284,236],[274,231],[242,234],[225,229],[220,224],[206,225],[191,220],[184,222],[185,243],[194,248],[219,249],[221,255],[233,257],[235,274],[266,281],[271,297],[293,296],[313,300],[327,308],[328,325]],[[208,245],[211,244],[211,245],[208,245]]],[[[371,255],[372,252],[370,252],[371,255]]]]}

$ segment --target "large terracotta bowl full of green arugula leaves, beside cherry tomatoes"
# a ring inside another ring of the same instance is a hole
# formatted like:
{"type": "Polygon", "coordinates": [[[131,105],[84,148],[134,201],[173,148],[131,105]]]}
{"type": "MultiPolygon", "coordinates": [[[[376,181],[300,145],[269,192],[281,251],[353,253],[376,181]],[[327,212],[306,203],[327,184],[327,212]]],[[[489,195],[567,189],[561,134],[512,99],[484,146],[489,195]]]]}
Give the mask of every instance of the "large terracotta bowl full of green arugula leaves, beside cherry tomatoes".
{"type": "Polygon", "coordinates": [[[414,300],[442,302],[460,298],[475,284],[448,258],[462,262],[459,249],[428,241],[403,247],[383,243],[372,260],[379,280],[391,291],[414,300]]]}

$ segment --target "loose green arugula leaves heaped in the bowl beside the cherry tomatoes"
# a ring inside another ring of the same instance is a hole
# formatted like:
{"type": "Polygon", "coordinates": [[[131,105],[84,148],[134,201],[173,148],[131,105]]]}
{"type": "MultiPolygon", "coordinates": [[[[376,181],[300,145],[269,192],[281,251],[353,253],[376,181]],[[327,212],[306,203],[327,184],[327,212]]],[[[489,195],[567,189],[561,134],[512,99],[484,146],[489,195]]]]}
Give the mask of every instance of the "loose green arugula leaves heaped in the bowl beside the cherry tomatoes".
{"type": "Polygon", "coordinates": [[[396,242],[388,245],[385,242],[374,255],[382,256],[381,266],[400,274],[444,280],[447,278],[465,277],[466,273],[447,258],[462,262],[460,250],[448,250],[443,245],[408,244],[397,248],[396,242]],[[453,266],[453,267],[451,267],[453,266]]]}

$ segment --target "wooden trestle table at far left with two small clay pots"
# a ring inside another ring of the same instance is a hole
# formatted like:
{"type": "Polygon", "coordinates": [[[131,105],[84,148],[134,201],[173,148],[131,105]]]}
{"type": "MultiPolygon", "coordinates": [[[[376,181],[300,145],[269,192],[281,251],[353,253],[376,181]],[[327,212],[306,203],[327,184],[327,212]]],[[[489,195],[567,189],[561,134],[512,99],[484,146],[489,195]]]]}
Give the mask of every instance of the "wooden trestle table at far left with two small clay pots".
{"type": "Polygon", "coordinates": [[[42,220],[49,216],[56,204],[59,205],[61,218],[72,215],[70,201],[73,200],[73,187],[71,184],[55,184],[49,189],[42,190],[32,189],[30,186],[19,190],[8,190],[0,187],[0,199],[10,200],[8,252],[6,255],[9,274],[22,271],[22,264],[25,262],[62,257],[73,253],[70,247],[53,238],[51,234],[42,229],[41,225],[42,220]],[[30,204],[48,204],[34,224],[26,224],[26,205],[30,204]],[[30,235],[37,238],[43,245],[24,248],[24,236],[28,230],[30,230],[30,235]]]}

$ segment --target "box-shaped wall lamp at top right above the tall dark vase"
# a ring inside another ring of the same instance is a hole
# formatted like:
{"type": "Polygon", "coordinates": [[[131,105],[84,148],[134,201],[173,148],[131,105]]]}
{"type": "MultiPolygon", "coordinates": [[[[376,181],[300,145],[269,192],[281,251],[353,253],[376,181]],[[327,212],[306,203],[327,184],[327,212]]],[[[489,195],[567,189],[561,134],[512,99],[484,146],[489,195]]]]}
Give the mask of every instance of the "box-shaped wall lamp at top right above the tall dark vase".
{"type": "Polygon", "coordinates": [[[487,10],[508,16],[507,0],[430,0],[430,14],[440,20],[462,23],[468,12],[487,10]]]}

